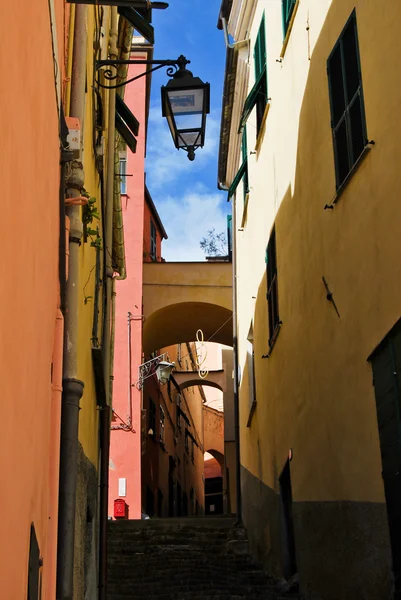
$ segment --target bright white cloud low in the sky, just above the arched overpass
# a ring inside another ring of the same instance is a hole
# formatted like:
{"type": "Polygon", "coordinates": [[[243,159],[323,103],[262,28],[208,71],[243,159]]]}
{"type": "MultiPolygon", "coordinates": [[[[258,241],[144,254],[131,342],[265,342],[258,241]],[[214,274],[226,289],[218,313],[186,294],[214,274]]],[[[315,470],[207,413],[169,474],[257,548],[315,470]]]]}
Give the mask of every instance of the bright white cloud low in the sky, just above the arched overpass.
{"type": "Polygon", "coordinates": [[[163,242],[162,256],[167,261],[203,261],[200,240],[213,228],[226,232],[225,194],[210,193],[203,184],[195,184],[182,195],[167,196],[156,204],[168,240],[163,242]]]}

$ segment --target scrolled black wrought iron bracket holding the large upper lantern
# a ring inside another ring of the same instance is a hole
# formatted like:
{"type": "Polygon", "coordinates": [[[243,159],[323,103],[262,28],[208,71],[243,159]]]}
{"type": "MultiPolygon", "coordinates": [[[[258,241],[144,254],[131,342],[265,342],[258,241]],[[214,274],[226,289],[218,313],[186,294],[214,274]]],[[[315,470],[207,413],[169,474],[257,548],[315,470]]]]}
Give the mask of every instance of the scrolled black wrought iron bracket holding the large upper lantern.
{"type": "Polygon", "coordinates": [[[149,73],[153,73],[154,71],[158,71],[163,67],[166,67],[166,74],[168,77],[174,77],[175,74],[179,71],[185,70],[186,65],[188,65],[191,61],[187,60],[185,56],[179,56],[177,59],[166,59],[166,60],[97,60],[96,61],[96,73],[99,73],[100,69],[106,67],[104,69],[103,77],[106,81],[115,81],[118,79],[119,74],[118,70],[121,65],[149,65],[150,69],[146,69],[143,73],[136,75],[135,77],[131,77],[131,79],[127,79],[126,81],[122,81],[121,83],[117,83],[114,85],[105,85],[99,81],[99,77],[96,78],[96,83],[99,87],[105,88],[106,90],[115,90],[117,88],[124,87],[131,83],[132,81],[136,81],[149,73]]]}

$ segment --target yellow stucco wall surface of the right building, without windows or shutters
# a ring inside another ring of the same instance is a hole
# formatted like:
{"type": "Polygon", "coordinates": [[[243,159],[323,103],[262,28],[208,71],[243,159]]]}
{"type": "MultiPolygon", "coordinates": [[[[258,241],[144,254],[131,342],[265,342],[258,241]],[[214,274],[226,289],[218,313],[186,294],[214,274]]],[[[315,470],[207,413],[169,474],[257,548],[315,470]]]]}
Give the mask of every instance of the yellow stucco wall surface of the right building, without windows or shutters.
{"type": "MultiPolygon", "coordinates": [[[[245,218],[240,188],[236,195],[237,224],[244,224],[237,232],[244,518],[253,547],[280,574],[273,515],[278,478],[292,449],[302,589],[333,600],[387,598],[390,554],[367,358],[400,317],[400,150],[393,115],[401,93],[392,75],[396,55],[385,68],[380,61],[383,48],[400,44],[400,7],[386,3],[383,10],[368,0],[300,2],[281,63],[275,60],[282,51],[280,3],[257,3],[252,43],[263,11],[271,105],[256,154],[248,157],[245,218]],[[368,137],[376,145],[335,208],[324,210],[336,192],[326,61],[354,7],[368,137]],[[265,251],[274,222],[282,325],[269,350],[265,251]],[[247,427],[252,320],[257,407],[247,427]],[[258,512],[258,497],[270,511],[258,512]],[[350,555],[342,554],[345,547],[350,555]],[[341,578],[330,567],[337,563],[341,578]]],[[[252,119],[250,151],[256,144],[252,119]]]]}

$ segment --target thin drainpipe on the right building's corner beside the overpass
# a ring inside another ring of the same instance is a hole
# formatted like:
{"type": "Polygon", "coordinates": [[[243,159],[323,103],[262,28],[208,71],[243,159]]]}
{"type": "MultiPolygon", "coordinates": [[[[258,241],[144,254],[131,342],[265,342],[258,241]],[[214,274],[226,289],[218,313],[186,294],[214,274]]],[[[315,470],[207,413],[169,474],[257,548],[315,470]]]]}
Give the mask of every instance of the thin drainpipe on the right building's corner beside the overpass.
{"type": "MultiPolygon", "coordinates": [[[[228,191],[228,187],[218,182],[219,190],[228,191]]],[[[232,201],[232,265],[233,265],[233,366],[234,366],[234,429],[235,429],[235,475],[236,475],[236,500],[237,520],[236,525],[242,523],[242,493],[241,493],[241,452],[240,452],[240,427],[239,427],[239,377],[238,377],[238,327],[237,327],[237,219],[235,194],[232,201]]]]}

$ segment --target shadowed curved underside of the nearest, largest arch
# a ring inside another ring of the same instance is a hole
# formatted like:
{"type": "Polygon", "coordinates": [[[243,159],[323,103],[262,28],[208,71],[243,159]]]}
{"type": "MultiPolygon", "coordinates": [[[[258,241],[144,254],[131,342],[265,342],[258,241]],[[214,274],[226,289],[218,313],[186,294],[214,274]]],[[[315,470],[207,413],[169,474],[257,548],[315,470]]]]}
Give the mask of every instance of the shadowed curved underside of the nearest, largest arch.
{"type": "Polygon", "coordinates": [[[232,346],[231,309],[207,302],[177,302],[159,308],[143,324],[145,356],[173,344],[193,342],[198,329],[202,329],[205,341],[212,338],[232,346]]]}

